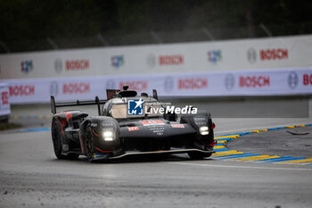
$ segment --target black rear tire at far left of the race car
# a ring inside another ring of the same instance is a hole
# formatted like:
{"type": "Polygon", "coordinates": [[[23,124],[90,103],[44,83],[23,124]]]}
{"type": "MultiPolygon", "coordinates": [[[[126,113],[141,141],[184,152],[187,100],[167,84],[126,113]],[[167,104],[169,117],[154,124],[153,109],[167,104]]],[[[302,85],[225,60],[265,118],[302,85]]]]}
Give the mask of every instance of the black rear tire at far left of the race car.
{"type": "Polygon", "coordinates": [[[57,157],[57,159],[77,159],[79,154],[67,154],[64,155],[62,154],[62,139],[61,135],[58,131],[57,128],[57,123],[55,119],[52,121],[52,127],[51,127],[51,133],[52,133],[52,142],[53,142],[53,149],[54,149],[54,154],[57,157]]]}

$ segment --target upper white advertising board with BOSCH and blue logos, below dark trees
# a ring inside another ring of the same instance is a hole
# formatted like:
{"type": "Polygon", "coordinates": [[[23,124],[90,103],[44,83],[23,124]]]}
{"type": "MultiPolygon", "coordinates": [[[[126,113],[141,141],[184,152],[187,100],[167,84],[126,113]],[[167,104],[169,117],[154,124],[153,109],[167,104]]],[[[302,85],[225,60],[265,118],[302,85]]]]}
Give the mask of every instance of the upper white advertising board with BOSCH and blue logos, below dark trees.
{"type": "Polygon", "coordinates": [[[1,54],[0,79],[312,67],[312,36],[1,54]]]}

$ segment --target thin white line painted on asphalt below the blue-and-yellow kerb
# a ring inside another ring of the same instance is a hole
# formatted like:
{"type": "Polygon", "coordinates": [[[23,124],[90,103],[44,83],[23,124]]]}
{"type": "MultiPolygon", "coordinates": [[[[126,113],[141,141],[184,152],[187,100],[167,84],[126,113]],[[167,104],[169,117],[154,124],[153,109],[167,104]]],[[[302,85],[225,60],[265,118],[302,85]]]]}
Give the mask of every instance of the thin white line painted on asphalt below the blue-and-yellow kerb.
{"type": "Polygon", "coordinates": [[[170,164],[193,165],[201,167],[215,167],[215,168],[237,168],[237,169],[260,169],[260,170],[287,170],[287,171],[312,171],[312,169],[302,168],[275,168],[275,167],[252,167],[252,166],[235,166],[235,165],[216,165],[216,164],[200,164],[200,163],[186,163],[186,162],[167,162],[170,164]]]}

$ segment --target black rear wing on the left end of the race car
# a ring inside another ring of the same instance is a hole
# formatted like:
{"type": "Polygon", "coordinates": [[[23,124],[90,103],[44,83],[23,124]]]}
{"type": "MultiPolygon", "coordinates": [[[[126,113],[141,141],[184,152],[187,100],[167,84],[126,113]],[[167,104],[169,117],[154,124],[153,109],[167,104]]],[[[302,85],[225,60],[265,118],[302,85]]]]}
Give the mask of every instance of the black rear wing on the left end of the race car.
{"type": "Polygon", "coordinates": [[[51,96],[51,112],[53,114],[56,113],[56,108],[58,107],[69,107],[69,106],[78,106],[78,105],[97,105],[97,111],[99,115],[101,114],[101,107],[100,104],[105,104],[106,100],[100,100],[98,96],[95,96],[95,100],[90,101],[76,101],[76,102],[67,102],[67,103],[58,103],[55,104],[54,96],[51,96]]]}

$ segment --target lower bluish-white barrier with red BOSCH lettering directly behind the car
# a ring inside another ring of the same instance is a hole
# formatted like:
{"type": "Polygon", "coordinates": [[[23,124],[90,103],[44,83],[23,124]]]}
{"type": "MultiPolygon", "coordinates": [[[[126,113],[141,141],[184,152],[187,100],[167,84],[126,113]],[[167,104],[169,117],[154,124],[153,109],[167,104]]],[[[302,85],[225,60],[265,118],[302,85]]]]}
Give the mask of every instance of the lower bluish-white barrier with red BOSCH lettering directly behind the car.
{"type": "MultiPolygon", "coordinates": [[[[168,73],[52,79],[6,79],[11,104],[106,98],[106,88],[128,85],[152,96],[282,96],[311,95],[312,68],[253,71],[168,73]]],[[[4,101],[5,103],[5,98],[4,101]]]]}

